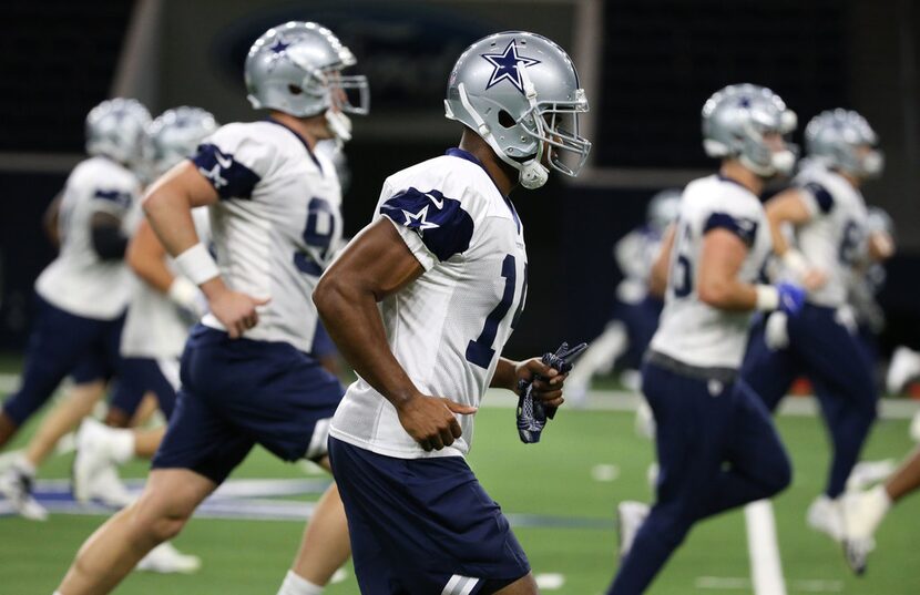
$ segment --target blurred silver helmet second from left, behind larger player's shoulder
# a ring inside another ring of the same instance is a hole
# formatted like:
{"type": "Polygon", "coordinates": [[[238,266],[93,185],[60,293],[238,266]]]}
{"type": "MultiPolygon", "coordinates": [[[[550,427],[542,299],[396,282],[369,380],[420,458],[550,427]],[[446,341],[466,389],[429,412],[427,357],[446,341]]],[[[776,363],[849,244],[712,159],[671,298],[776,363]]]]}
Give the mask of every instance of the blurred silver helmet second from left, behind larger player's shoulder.
{"type": "Polygon", "coordinates": [[[166,173],[173,165],[195,154],[206,136],[217,130],[211,112],[183,105],[166,110],[147,126],[150,160],[155,175],[166,173]]]}

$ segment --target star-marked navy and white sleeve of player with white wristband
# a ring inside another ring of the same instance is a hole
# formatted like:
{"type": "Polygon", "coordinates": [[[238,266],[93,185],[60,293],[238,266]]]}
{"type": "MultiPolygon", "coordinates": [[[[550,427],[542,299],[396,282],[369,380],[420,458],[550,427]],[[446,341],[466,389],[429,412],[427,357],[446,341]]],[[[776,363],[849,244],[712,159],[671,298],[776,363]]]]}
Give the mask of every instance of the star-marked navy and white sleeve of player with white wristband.
{"type": "Polygon", "coordinates": [[[273,163],[273,147],[239,124],[224,126],[198,145],[192,162],[222,199],[252,198],[273,163]]]}

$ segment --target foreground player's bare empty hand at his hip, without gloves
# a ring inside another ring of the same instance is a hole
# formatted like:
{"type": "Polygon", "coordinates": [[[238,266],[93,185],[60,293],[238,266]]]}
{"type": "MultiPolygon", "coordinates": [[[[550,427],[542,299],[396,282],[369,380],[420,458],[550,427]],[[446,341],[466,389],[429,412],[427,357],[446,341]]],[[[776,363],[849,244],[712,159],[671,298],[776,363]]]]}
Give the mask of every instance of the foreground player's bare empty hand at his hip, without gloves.
{"type": "Polygon", "coordinates": [[[476,411],[474,407],[421,393],[397,409],[399,423],[426,451],[441,450],[453,444],[462,433],[454,413],[471,416],[476,411]]]}

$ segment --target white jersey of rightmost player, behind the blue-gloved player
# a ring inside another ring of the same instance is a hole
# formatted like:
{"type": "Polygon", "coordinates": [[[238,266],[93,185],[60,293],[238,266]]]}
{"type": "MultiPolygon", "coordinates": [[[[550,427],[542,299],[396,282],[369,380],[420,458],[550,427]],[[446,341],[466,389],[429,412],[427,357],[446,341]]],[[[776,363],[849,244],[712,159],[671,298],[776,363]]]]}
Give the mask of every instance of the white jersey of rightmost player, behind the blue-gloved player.
{"type": "Polygon", "coordinates": [[[846,304],[853,267],[866,252],[868,213],[862,194],[840,174],[812,165],[795,181],[811,220],[796,229],[796,244],[827,283],[808,301],[837,308],[846,304]]]}

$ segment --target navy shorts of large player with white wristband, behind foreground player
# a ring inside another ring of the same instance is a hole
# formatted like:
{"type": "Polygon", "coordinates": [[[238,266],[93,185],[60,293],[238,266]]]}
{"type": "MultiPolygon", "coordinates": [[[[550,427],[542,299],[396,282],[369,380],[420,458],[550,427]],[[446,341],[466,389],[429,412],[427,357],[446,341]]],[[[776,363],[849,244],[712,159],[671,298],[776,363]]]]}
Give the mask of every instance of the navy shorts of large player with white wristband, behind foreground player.
{"type": "Polygon", "coordinates": [[[153,468],[190,469],[217,483],[256,443],[285,461],[324,456],[345,392],[289,343],[231,339],[202,325],[185,346],[181,379],[153,468]]]}

